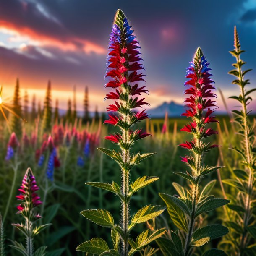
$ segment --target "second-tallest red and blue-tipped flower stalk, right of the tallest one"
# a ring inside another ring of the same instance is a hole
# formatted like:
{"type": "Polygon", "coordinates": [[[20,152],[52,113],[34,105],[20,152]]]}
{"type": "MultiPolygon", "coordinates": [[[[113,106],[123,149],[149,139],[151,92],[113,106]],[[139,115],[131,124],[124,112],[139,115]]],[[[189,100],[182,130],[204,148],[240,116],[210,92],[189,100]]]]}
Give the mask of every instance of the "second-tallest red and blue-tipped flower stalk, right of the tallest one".
{"type": "MultiPolygon", "coordinates": [[[[190,170],[186,173],[175,172],[187,179],[190,186],[186,189],[173,183],[178,196],[159,194],[167,204],[168,213],[173,223],[179,229],[178,233],[171,232],[169,238],[159,239],[162,252],[165,252],[165,246],[173,247],[173,250],[167,255],[189,256],[196,247],[228,233],[228,229],[222,225],[201,227],[199,221],[204,212],[209,212],[230,202],[229,200],[214,198],[212,195],[209,196],[215,183],[213,180],[202,190],[200,188],[203,176],[220,168],[208,166],[203,161],[206,152],[218,147],[218,145],[211,145],[210,142],[204,141],[206,137],[217,133],[208,127],[209,123],[217,122],[212,115],[217,102],[212,100],[216,94],[212,92],[215,89],[212,85],[214,81],[211,79],[212,75],[209,73],[211,69],[208,66],[209,63],[199,47],[187,69],[185,77],[189,80],[184,84],[184,86],[188,86],[184,94],[190,94],[190,96],[185,98],[187,109],[183,116],[191,118],[191,122],[181,129],[181,131],[191,133],[193,138],[191,141],[185,141],[179,145],[190,152],[187,156],[182,157],[182,161],[190,167],[190,170]]],[[[214,253],[216,253],[216,249],[207,251],[204,255],[214,255],[214,253]]]]}

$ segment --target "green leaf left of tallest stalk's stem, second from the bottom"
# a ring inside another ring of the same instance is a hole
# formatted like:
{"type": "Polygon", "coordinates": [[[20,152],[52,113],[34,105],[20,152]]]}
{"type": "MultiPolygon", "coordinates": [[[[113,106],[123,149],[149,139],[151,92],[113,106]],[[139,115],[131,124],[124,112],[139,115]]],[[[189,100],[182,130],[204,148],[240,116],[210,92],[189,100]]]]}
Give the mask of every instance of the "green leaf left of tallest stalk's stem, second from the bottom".
{"type": "Polygon", "coordinates": [[[110,212],[104,209],[91,209],[80,212],[84,217],[102,227],[115,227],[114,219],[110,212]]]}

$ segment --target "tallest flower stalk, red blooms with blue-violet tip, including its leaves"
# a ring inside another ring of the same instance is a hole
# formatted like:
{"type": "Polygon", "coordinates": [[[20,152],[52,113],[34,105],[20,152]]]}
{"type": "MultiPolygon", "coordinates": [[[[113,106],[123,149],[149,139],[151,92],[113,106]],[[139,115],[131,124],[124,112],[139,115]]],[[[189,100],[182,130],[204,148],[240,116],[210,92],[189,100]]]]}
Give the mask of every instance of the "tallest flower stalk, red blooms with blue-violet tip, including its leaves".
{"type": "Polygon", "coordinates": [[[138,99],[138,96],[147,92],[145,86],[134,84],[134,82],[144,81],[142,78],[144,76],[143,73],[138,72],[138,70],[144,69],[141,64],[142,59],[139,57],[141,54],[138,51],[139,48],[127,18],[119,9],[115,15],[115,21],[110,34],[110,52],[107,58],[106,73],[106,77],[110,78],[110,80],[105,86],[114,89],[114,91],[107,94],[106,99],[115,101],[107,108],[108,111],[115,112],[115,114],[111,113],[105,123],[117,126],[120,129],[120,133],[106,136],[105,139],[118,144],[120,151],[103,148],[100,148],[100,150],[120,165],[122,178],[121,186],[114,181],[112,184],[99,182],[89,182],[86,184],[106,189],[119,196],[121,201],[120,225],[115,225],[110,212],[104,209],[82,211],[81,214],[87,219],[103,227],[111,228],[114,248],[109,249],[107,243],[101,238],[93,238],[78,246],[76,248],[78,251],[93,253],[94,255],[131,256],[165,233],[165,229],[154,232],[145,230],[138,235],[136,241],[130,238],[130,232],[137,223],[146,222],[149,219],[157,217],[165,210],[164,206],[147,205],[142,207],[132,218],[130,217],[129,203],[133,193],[155,180],[158,180],[157,177],[143,176],[138,178],[135,182],[130,183],[132,167],[141,162],[141,160],[155,154],[131,153],[131,146],[135,141],[149,136],[149,134],[144,133],[140,129],[132,129],[132,125],[139,120],[148,118],[145,110],[140,112],[134,111],[135,108],[148,104],[144,101],[144,98],[138,99]],[[120,242],[121,246],[119,246],[120,242]]]}

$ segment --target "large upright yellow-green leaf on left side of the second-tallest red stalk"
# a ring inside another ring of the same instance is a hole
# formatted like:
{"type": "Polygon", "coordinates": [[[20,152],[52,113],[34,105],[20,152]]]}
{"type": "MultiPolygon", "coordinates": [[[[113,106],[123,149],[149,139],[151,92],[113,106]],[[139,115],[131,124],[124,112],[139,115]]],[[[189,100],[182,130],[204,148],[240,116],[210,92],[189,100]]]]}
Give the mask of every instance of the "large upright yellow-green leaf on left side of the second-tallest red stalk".
{"type": "Polygon", "coordinates": [[[183,211],[178,207],[171,199],[170,196],[164,193],[159,193],[159,196],[163,199],[167,206],[167,211],[172,219],[172,222],[176,227],[188,232],[188,222],[183,211]]]}

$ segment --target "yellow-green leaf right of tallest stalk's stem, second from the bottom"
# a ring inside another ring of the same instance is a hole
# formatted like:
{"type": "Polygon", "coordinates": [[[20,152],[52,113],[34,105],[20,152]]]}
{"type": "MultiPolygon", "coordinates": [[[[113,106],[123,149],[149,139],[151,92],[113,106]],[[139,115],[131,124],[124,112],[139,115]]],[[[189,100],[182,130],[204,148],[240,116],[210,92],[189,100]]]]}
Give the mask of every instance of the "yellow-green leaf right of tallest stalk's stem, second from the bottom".
{"type": "Polygon", "coordinates": [[[131,224],[129,225],[129,229],[131,227],[135,226],[137,223],[146,222],[149,219],[153,219],[160,215],[164,210],[166,209],[165,206],[156,205],[153,204],[146,205],[138,210],[136,214],[133,215],[131,219],[131,224]]]}

